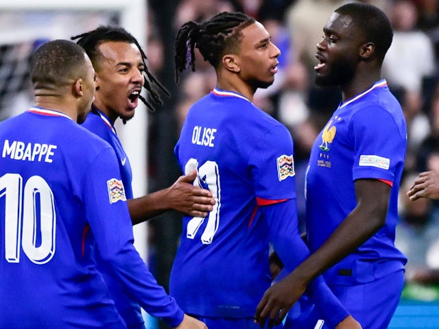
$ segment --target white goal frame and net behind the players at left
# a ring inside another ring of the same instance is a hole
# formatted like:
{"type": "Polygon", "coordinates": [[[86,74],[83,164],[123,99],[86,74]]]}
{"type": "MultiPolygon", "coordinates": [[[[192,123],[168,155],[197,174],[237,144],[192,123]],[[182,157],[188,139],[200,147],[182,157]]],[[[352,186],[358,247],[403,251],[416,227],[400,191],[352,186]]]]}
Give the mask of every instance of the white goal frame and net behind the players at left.
{"type": "MultiPolygon", "coordinates": [[[[42,42],[70,39],[99,25],[121,25],[145,49],[146,1],[130,0],[1,0],[0,1],[0,121],[32,106],[29,60],[42,42]]],[[[139,102],[136,117],[117,126],[130,158],[134,196],[147,191],[147,110],[139,102]],[[135,143],[134,143],[135,141],[135,143]]],[[[134,228],[135,245],[147,259],[146,226],[134,228]]]]}

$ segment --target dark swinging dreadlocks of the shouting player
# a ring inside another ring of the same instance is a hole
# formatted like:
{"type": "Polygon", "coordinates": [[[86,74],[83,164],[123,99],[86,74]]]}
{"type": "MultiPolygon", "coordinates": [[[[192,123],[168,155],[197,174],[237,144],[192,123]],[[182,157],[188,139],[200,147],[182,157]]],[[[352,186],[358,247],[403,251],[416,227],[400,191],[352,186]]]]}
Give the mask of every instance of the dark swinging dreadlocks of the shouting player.
{"type": "MultiPolygon", "coordinates": [[[[99,58],[100,52],[97,49],[99,45],[101,45],[104,42],[109,41],[115,41],[115,42],[128,42],[133,43],[134,45],[139,48],[139,51],[142,56],[143,64],[145,65],[145,82],[143,83],[143,87],[147,90],[149,93],[152,101],[160,106],[163,105],[163,101],[161,97],[158,95],[156,90],[154,89],[153,85],[158,86],[167,97],[170,96],[169,91],[152,75],[152,73],[148,70],[146,66],[146,60],[147,57],[145,55],[145,51],[143,51],[142,47],[139,45],[139,42],[137,41],[132,34],[130,34],[126,29],[123,29],[123,27],[118,26],[110,26],[110,25],[100,25],[97,27],[97,29],[93,29],[93,31],[86,32],[83,34],[79,34],[78,36],[72,36],[71,40],[77,40],[76,42],[78,45],[80,45],[84,50],[86,51],[88,57],[90,58],[91,62],[93,63],[93,66],[96,67],[97,65],[97,59],[99,58]]],[[[152,104],[150,104],[143,96],[139,95],[139,99],[147,106],[147,108],[154,112],[154,107],[152,104]]],[[[124,121],[123,123],[126,123],[124,121]]]]}

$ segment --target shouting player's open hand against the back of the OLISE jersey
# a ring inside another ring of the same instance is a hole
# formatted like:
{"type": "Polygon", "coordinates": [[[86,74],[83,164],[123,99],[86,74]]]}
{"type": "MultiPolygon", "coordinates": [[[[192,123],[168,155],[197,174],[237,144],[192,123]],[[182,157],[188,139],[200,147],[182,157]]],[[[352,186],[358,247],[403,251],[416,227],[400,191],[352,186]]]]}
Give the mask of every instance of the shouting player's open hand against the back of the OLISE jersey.
{"type": "Polygon", "coordinates": [[[178,210],[192,217],[206,217],[213,209],[215,199],[209,190],[193,186],[197,176],[193,170],[188,175],[182,175],[172,186],[167,188],[169,208],[178,210]]]}

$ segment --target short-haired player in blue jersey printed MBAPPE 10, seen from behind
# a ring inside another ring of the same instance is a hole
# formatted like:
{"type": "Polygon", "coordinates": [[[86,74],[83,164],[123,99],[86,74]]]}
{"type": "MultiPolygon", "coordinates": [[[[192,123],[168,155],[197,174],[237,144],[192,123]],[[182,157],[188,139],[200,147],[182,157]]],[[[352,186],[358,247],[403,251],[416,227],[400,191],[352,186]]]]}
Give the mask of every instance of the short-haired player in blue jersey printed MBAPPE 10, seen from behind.
{"type": "Polygon", "coordinates": [[[126,328],[96,254],[152,315],[206,328],[147,270],[115,152],[78,125],[94,75],[82,47],[47,42],[32,57],[35,106],[0,123],[0,328],[126,328]]]}

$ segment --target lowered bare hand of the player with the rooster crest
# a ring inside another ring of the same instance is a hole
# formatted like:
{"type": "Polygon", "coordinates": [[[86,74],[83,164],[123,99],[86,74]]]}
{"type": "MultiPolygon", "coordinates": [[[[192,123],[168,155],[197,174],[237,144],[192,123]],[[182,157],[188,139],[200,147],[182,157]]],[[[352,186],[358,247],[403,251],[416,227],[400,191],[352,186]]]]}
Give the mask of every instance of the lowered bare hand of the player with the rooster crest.
{"type": "Polygon", "coordinates": [[[300,280],[291,274],[276,282],[263,294],[254,314],[254,322],[261,328],[265,321],[268,321],[269,327],[281,324],[289,308],[297,302],[306,288],[306,284],[300,284],[300,280]]]}

